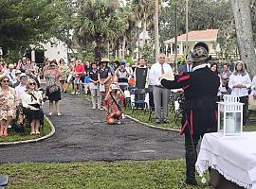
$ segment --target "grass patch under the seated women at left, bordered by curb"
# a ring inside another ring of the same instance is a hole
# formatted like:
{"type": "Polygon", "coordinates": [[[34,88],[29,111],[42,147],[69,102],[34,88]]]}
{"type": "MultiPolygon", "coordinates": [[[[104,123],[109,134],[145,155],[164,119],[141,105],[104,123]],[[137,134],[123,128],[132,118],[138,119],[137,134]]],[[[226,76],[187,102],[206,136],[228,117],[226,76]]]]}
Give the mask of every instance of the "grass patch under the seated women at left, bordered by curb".
{"type": "Polygon", "coordinates": [[[16,132],[13,129],[9,129],[9,132],[8,132],[9,136],[0,137],[0,143],[36,139],[36,138],[40,138],[42,136],[45,136],[46,134],[50,133],[50,131],[51,131],[50,125],[45,119],[44,120],[44,128],[41,130],[40,135],[30,135],[30,128],[27,125],[25,127],[25,132],[24,133],[16,132]]]}

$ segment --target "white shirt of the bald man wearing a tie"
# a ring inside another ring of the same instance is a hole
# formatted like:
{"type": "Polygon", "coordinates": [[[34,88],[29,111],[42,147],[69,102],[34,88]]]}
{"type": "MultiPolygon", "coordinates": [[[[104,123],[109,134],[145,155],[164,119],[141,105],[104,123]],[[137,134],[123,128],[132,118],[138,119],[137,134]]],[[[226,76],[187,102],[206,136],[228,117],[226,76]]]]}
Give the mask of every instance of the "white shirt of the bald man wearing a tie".
{"type": "MultiPolygon", "coordinates": [[[[163,64],[163,70],[165,74],[173,73],[173,69],[171,65],[169,65],[168,63],[163,64]]],[[[161,82],[159,80],[159,77],[161,76],[162,76],[162,66],[159,62],[156,62],[151,66],[151,69],[150,69],[150,75],[149,75],[150,84],[160,86],[161,82]]]]}

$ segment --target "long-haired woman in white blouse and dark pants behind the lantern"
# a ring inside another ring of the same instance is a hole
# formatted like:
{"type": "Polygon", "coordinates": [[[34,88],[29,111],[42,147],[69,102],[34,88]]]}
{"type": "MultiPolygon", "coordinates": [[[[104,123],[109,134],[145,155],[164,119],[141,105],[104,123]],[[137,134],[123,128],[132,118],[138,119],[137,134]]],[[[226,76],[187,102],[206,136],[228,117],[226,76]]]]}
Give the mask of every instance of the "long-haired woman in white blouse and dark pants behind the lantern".
{"type": "Polygon", "coordinates": [[[248,106],[248,88],[251,85],[251,80],[247,74],[245,63],[238,60],[235,64],[234,73],[229,77],[229,88],[231,94],[239,97],[243,106],[243,126],[247,124],[247,106],[248,106]]]}

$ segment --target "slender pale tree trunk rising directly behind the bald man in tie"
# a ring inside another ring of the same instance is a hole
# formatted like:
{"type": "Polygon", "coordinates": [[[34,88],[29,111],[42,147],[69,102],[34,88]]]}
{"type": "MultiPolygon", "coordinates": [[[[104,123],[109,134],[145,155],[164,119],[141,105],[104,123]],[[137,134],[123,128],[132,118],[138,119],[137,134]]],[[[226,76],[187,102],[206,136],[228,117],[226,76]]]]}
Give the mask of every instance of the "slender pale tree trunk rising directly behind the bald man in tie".
{"type": "Polygon", "coordinates": [[[154,20],[155,20],[155,24],[154,24],[154,27],[155,27],[155,61],[157,60],[157,57],[160,53],[160,47],[159,47],[159,24],[158,24],[158,17],[159,17],[159,1],[158,0],[155,0],[155,17],[154,17],[154,20]]]}

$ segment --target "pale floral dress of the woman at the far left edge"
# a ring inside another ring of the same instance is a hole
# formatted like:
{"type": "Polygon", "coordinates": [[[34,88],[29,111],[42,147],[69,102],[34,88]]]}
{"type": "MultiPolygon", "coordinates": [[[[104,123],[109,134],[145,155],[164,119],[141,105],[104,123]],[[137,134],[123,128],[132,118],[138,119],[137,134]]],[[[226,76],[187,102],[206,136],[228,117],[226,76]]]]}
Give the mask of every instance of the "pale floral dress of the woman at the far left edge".
{"type": "Polygon", "coordinates": [[[7,94],[4,94],[0,88],[0,120],[13,119],[16,116],[16,107],[19,104],[19,98],[14,89],[9,87],[7,94]]]}

